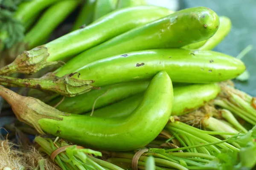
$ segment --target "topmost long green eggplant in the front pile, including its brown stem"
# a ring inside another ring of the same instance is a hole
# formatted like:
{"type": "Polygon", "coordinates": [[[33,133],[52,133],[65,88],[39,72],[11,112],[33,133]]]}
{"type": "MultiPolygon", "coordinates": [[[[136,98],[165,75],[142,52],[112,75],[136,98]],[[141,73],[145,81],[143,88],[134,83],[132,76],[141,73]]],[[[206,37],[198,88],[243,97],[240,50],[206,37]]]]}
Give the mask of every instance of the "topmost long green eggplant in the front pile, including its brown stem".
{"type": "Polygon", "coordinates": [[[170,13],[172,11],[166,8],[155,6],[137,6],[113,11],[86,28],[73,31],[30,51],[24,51],[17,58],[26,61],[25,65],[24,62],[16,59],[10,65],[2,68],[0,74],[35,73],[41,68],[56,64],[56,61],[79,54],[112,37],[170,13]],[[44,49],[45,51],[42,53],[44,49]]]}

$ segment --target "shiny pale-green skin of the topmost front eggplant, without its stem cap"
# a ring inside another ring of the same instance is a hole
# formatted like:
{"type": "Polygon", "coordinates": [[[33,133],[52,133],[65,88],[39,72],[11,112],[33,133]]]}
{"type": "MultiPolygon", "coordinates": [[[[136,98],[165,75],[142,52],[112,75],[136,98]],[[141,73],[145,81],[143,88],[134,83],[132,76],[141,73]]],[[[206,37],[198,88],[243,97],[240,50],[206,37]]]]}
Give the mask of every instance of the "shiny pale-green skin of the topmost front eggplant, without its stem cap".
{"type": "Polygon", "coordinates": [[[70,32],[46,45],[48,62],[77,55],[137,26],[170,14],[169,9],[157,6],[136,6],[111,12],[85,28],[70,32]]]}

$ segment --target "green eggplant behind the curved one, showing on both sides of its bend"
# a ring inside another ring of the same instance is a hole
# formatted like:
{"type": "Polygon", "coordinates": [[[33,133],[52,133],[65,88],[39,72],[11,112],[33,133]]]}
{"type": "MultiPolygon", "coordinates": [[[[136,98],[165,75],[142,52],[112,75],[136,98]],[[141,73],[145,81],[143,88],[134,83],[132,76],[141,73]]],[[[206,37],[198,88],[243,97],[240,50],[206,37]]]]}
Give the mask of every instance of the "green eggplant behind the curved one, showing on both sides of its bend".
{"type": "MultiPolygon", "coordinates": [[[[194,111],[214,99],[219,92],[220,87],[215,83],[175,87],[173,88],[172,115],[180,116],[194,111]]],[[[104,108],[99,108],[93,112],[93,116],[102,118],[128,116],[140,103],[142,96],[143,93],[140,93],[104,108]]]]}

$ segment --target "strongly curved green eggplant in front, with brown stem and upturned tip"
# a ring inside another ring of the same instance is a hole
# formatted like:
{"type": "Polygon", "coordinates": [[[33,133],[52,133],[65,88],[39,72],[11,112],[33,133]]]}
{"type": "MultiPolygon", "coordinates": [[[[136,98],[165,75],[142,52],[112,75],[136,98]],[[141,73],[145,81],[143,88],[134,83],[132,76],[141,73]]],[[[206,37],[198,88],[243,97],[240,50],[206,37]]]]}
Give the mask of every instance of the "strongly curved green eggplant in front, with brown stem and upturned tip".
{"type": "Polygon", "coordinates": [[[173,89],[169,75],[165,71],[157,73],[138,107],[125,119],[65,114],[2,86],[0,96],[9,102],[20,121],[40,133],[97,149],[128,151],[144,147],[163,130],[172,112],[173,89]]]}

